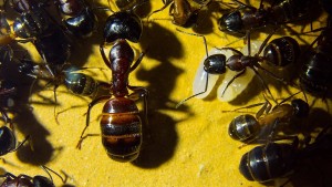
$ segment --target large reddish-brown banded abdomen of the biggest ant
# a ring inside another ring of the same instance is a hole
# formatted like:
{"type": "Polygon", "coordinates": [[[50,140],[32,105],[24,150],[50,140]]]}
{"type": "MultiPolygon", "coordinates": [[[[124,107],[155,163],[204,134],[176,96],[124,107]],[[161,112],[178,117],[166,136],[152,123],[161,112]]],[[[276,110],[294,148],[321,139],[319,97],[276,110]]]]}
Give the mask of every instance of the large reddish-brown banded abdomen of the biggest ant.
{"type": "Polygon", "coordinates": [[[103,108],[102,143],[107,155],[117,162],[138,157],[142,144],[142,121],[134,101],[126,97],[108,100],[103,108]]]}

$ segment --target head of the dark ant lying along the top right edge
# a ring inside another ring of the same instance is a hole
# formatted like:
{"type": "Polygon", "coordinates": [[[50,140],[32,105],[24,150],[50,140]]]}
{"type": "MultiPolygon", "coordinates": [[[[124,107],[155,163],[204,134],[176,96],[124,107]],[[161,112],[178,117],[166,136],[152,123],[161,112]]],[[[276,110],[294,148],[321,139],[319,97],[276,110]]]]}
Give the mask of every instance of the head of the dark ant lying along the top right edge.
{"type": "Polygon", "coordinates": [[[220,31],[240,32],[242,30],[240,11],[224,14],[220,19],[218,19],[218,27],[220,31]]]}

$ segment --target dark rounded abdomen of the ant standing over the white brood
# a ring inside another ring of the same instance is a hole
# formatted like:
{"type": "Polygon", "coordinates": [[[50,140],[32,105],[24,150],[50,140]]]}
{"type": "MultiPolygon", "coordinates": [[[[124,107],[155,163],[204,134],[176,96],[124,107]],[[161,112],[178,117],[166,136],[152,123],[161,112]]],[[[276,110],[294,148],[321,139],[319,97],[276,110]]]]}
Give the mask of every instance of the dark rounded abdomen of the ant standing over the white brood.
{"type": "Polygon", "coordinates": [[[263,56],[269,64],[286,66],[297,62],[300,55],[299,43],[290,38],[282,37],[272,40],[264,49],[263,56]]]}

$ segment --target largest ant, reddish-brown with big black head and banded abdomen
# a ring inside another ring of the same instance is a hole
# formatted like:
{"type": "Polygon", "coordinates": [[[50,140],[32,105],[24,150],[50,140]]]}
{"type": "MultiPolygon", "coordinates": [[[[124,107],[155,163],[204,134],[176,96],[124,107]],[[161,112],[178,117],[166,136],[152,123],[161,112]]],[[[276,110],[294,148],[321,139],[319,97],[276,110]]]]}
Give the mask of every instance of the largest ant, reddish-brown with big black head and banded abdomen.
{"type": "Polygon", "coordinates": [[[138,42],[142,32],[141,19],[129,12],[120,11],[108,17],[104,28],[104,43],[100,45],[101,55],[112,71],[112,82],[103,86],[110,95],[100,96],[89,104],[86,124],[81,134],[77,148],[81,148],[84,133],[90,124],[90,113],[94,105],[106,101],[101,116],[102,143],[107,155],[117,162],[133,162],[138,157],[142,145],[142,120],[135,101],[144,100],[145,122],[147,122],[147,94],[142,86],[128,84],[128,75],[141,63],[144,53],[134,61],[134,51],[126,40],[138,42]],[[108,59],[104,45],[113,43],[108,59]],[[133,93],[129,93],[129,90],[133,93]]]}

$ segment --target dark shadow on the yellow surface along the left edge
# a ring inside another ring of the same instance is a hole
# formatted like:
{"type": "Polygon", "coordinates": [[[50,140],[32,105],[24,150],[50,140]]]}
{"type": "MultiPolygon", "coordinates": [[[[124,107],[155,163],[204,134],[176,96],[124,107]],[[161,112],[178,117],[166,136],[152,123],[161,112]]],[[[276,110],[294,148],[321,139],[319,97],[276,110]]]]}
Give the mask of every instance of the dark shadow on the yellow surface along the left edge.
{"type": "MultiPolygon", "coordinates": [[[[20,46],[12,46],[12,49],[15,51],[24,51],[20,46]]],[[[14,58],[19,58],[15,51],[14,58]]],[[[1,58],[3,58],[2,54],[1,58]]],[[[1,79],[10,81],[17,87],[15,95],[12,95],[15,105],[8,110],[14,114],[13,122],[15,129],[25,136],[31,136],[30,141],[31,145],[33,145],[33,150],[31,150],[29,143],[27,143],[20,147],[15,154],[23,163],[44,165],[54,156],[54,148],[51,143],[46,141],[50,132],[38,122],[33,115],[33,108],[28,104],[29,97],[31,96],[30,94],[32,94],[30,93],[32,80],[19,73],[19,62],[17,60],[18,59],[1,59],[1,79]]]]}

